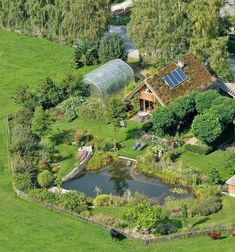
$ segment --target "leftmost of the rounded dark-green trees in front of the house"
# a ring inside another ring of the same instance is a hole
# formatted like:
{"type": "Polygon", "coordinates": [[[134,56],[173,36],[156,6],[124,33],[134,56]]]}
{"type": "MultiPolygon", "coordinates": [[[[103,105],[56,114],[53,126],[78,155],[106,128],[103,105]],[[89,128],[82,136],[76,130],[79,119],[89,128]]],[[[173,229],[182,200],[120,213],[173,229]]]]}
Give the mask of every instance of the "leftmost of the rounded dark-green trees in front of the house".
{"type": "Polygon", "coordinates": [[[176,119],[169,107],[157,108],[152,118],[153,128],[158,136],[174,135],[176,132],[176,119]]]}

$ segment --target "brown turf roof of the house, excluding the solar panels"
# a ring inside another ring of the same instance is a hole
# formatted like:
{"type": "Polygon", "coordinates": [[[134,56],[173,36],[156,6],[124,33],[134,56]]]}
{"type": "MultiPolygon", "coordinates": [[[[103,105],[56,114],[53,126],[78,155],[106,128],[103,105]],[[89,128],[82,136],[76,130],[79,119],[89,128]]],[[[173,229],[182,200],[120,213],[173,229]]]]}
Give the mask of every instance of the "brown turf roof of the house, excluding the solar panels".
{"type": "Polygon", "coordinates": [[[141,87],[147,83],[154,91],[153,94],[156,96],[158,101],[160,99],[163,104],[168,104],[176,98],[193,90],[205,90],[215,81],[215,78],[209,73],[207,68],[194,53],[189,52],[180,60],[185,63],[183,68],[183,71],[187,76],[187,80],[185,82],[174,89],[170,89],[170,87],[165,83],[163,77],[178,67],[177,63],[172,63],[142,82],[139,87],[133,90],[126,98],[132,98],[141,89],[141,87]]]}

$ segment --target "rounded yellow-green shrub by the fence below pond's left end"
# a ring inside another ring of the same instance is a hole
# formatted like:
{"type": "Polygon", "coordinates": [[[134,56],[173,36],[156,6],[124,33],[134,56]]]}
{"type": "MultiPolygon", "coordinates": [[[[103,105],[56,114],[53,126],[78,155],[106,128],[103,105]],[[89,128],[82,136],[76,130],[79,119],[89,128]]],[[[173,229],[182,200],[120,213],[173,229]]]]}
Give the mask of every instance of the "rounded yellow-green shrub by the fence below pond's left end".
{"type": "Polygon", "coordinates": [[[60,195],[58,206],[76,213],[81,213],[88,209],[85,195],[77,191],[69,191],[60,195]]]}

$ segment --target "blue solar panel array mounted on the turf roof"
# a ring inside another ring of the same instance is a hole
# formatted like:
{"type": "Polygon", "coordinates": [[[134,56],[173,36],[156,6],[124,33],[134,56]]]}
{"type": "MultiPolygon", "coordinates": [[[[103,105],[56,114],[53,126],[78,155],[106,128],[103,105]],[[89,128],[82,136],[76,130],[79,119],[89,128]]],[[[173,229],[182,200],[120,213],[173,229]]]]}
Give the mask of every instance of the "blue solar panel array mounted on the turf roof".
{"type": "Polygon", "coordinates": [[[181,83],[187,80],[187,76],[185,75],[182,68],[178,67],[176,70],[171,73],[165,75],[163,77],[166,84],[170,87],[170,89],[178,87],[181,83]]]}

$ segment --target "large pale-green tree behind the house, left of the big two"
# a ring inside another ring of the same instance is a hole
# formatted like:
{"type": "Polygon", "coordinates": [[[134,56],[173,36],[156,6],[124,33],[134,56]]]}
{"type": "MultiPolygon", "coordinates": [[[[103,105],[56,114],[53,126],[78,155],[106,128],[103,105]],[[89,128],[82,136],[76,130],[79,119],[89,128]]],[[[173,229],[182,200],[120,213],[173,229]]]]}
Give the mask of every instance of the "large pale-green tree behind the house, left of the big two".
{"type": "Polygon", "coordinates": [[[135,0],[128,34],[145,60],[166,64],[189,46],[186,1],[135,0]]]}

